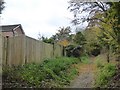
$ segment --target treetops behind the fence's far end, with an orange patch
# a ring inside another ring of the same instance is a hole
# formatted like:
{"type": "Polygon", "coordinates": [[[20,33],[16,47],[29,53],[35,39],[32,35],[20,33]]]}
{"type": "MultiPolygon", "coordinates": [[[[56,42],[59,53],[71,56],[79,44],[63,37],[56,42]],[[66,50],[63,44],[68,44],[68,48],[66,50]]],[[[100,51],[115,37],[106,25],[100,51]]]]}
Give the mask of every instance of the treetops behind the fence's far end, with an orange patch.
{"type": "Polygon", "coordinates": [[[69,44],[69,41],[71,40],[71,28],[68,27],[60,27],[60,29],[58,30],[58,32],[55,35],[52,35],[50,38],[41,36],[40,34],[38,39],[45,42],[45,43],[58,43],[62,46],[67,46],[69,44]]]}

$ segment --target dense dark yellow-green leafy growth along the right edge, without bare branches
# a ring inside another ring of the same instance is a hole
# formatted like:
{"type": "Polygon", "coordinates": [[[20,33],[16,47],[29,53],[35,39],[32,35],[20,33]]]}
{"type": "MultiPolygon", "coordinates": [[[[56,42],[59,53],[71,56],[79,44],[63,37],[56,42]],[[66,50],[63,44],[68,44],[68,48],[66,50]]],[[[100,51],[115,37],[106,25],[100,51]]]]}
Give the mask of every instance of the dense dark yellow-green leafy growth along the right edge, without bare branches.
{"type": "Polygon", "coordinates": [[[117,54],[120,60],[120,2],[113,2],[110,9],[107,11],[106,18],[103,20],[106,23],[101,22],[101,42],[108,49],[108,62],[109,62],[109,49],[110,47],[117,54]]]}

